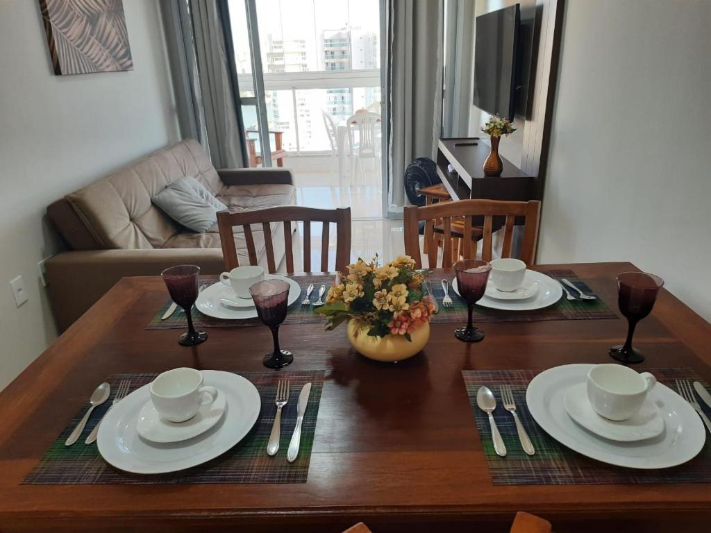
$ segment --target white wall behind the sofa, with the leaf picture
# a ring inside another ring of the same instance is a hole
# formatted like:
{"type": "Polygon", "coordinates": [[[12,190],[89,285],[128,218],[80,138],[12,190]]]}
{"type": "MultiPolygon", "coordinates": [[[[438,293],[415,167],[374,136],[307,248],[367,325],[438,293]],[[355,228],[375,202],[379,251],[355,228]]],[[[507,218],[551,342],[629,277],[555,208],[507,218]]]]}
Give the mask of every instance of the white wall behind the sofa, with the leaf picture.
{"type": "Polygon", "coordinates": [[[157,1],[124,0],[131,72],[55,76],[34,0],[0,2],[0,389],[55,337],[37,262],[46,206],[178,140],[157,1]],[[8,281],[23,276],[16,308],[8,281]]]}

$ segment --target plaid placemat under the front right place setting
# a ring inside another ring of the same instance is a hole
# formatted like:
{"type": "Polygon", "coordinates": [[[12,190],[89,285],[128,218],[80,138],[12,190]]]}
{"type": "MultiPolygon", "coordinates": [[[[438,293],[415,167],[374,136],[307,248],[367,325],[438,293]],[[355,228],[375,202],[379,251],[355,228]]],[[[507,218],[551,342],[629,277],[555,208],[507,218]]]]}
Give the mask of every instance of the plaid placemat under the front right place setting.
{"type": "MultiPolygon", "coordinates": [[[[528,383],[540,370],[463,370],[461,372],[474,411],[476,428],[483,446],[489,474],[494,485],[600,485],[626,483],[710,483],[711,445],[707,438],[702,451],[688,463],[661,470],[638,470],[600,463],[563,446],[535,423],[526,407],[528,383]],[[535,448],[528,456],[521,449],[513,416],[501,406],[499,386],[511,386],[516,412],[535,448]],[[496,426],[506,445],[506,457],[499,457],[491,443],[491,428],[484,411],[476,406],[476,391],[486,385],[496,396],[498,407],[493,411],[496,426]]],[[[703,382],[690,368],[651,370],[658,382],[676,390],[675,379],[692,379],[703,382]]],[[[703,406],[708,416],[711,409],[703,406]]]]}

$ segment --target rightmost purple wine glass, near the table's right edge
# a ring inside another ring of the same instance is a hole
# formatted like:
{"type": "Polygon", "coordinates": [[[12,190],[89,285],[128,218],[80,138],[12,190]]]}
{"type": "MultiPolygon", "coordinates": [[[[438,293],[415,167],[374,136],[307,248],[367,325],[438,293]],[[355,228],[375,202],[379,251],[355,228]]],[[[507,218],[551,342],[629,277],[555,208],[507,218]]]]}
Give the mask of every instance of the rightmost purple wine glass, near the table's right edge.
{"type": "Polygon", "coordinates": [[[623,272],[617,276],[617,305],[627,318],[627,340],[624,345],[610,348],[609,354],[620,362],[642,362],[644,355],[632,346],[634,328],[642,318],[652,312],[659,289],[664,280],[646,272],[623,272]]]}

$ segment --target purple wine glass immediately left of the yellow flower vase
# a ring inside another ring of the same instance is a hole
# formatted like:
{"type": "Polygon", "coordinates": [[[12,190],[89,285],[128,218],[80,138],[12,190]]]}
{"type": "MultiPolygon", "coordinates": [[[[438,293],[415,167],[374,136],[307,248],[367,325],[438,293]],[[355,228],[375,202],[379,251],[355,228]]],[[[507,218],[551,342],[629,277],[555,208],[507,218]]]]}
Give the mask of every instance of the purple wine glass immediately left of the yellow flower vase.
{"type": "Polygon", "coordinates": [[[292,352],[279,348],[279,325],[287,318],[289,284],[280,279],[259,281],[250,287],[250,294],[255,301],[257,316],[269,326],[274,338],[274,352],[264,356],[264,366],[282,368],[291,365],[294,360],[292,352]]]}

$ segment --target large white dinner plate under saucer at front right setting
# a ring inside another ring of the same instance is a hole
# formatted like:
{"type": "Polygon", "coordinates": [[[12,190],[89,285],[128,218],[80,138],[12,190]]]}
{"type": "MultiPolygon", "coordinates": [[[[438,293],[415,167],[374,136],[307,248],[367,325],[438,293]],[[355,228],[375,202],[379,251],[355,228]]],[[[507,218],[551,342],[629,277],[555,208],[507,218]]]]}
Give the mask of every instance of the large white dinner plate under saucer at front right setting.
{"type": "Polygon", "coordinates": [[[534,377],[526,390],[533,419],[564,446],[589,458],[627,468],[670,468],[694,458],[706,440],[706,429],[696,411],[678,394],[657,383],[648,397],[664,419],[664,431],[655,438],[615,442],[576,424],[565,410],[565,393],[585,382],[593,365],[563,365],[534,377]]]}

